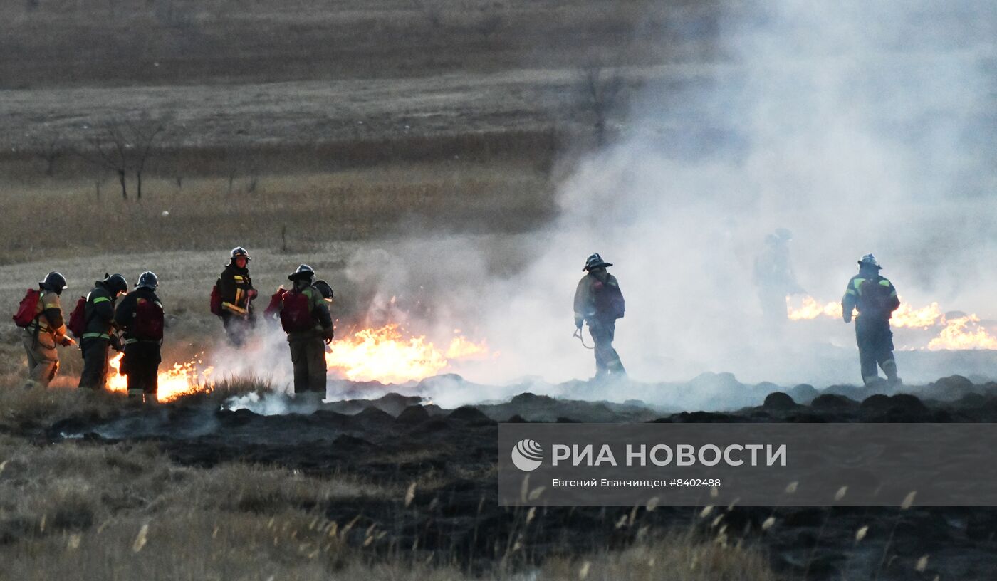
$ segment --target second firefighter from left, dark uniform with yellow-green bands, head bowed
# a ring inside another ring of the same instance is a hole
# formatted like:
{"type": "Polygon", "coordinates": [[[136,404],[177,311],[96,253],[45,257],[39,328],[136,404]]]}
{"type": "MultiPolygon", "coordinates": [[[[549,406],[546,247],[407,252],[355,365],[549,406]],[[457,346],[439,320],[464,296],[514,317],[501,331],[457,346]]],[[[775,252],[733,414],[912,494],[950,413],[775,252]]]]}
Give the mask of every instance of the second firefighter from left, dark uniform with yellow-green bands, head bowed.
{"type": "Polygon", "coordinates": [[[115,328],[115,304],[128,292],[128,281],[120,274],[106,275],[94,283],[87,295],[85,325],[80,349],[83,351],[83,373],[80,389],[103,390],[107,387],[111,348],[121,351],[121,340],[115,328]]]}

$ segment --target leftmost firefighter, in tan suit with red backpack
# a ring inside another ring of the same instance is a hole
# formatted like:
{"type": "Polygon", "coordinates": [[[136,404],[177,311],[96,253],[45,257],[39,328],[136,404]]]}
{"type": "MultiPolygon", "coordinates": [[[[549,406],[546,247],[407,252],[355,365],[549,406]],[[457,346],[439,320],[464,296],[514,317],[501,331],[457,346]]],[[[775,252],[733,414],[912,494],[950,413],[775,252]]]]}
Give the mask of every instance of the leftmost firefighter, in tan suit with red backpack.
{"type": "Polygon", "coordinates": [[[45,280],[38,283],[38,288],[41,296],[35,308],[35,317],[21,334],[21,343],[28,354],[26,388],[47,387],[59,373],[56,345],[73,345],[73,340],[66,335],[62,303],[59,302],[59,295],[66,288],[66,277],[50,272],[45,275],[45,280]]]}

